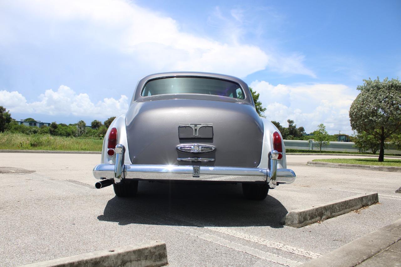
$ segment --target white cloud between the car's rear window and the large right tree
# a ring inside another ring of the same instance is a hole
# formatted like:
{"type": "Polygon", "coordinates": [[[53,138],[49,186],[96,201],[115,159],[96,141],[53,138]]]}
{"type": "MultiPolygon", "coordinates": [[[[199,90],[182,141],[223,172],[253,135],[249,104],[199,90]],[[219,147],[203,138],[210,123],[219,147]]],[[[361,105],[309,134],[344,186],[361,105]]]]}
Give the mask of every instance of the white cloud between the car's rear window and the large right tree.
{"type": "Polygon", "coordinates": [[[260,93],[266,107],[267,118],[287,126],[292,119],[304,126],[306,132],[314,131],[324,123],[330,134],[341,130],[350,134],[348,111],[358,92],[342,84],[271,85],[266,81],[253,81],[250,87],[260,93]]]}

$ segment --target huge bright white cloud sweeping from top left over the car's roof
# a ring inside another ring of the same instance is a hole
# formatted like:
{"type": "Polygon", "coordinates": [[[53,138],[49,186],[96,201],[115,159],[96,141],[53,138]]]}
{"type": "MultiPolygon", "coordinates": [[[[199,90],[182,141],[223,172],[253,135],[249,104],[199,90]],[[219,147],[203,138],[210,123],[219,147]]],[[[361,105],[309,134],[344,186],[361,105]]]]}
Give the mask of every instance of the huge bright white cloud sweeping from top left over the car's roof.
{"type": "Polygon", "coordinates": [[[15,44],[25,44],[45,56],[71,53],[79,61],[93,51],[113,51],[111,55],[125,55],[138,69],[153,72],[210,71],[246,77],[272,67],[314,77],[302,55],[273,55],[239,42],[246,32],[243,17],[239,9],[231,10],[235,23],[221,15],[221,28],[232,38],[215,40],[183,32],[176,20],[128,0],[1,1],[0,47],[12,50],[15,44]]]}

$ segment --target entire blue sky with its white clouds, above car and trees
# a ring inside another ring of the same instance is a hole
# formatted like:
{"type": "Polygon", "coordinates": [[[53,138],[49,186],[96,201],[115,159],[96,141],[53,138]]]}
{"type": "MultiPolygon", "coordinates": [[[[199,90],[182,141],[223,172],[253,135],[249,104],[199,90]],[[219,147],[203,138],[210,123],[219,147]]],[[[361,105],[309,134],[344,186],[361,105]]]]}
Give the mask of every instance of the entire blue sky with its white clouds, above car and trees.
{"type": "Polygon", "coordinates": [[[265,115],[351,134],[362,79],[401,76],[400,1],[2,1],[0,105],[75,123],[124,113],[141,77],[241,77],[265,115]]]}

